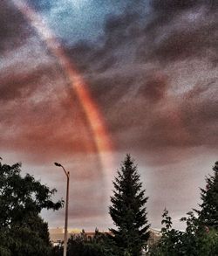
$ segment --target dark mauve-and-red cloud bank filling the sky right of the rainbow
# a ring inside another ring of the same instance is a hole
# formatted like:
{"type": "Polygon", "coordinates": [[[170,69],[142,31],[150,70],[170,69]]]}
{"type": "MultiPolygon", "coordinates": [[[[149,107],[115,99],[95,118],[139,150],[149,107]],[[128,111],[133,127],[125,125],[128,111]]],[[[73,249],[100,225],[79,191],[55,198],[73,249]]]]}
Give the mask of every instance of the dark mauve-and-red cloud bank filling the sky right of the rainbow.
{"type": "Polygon", "coordinates": [[[140,1],[106,20],[101,47],[68,49],[120,149],[216,145],[217,14],[213,1],[151,1],[149,12],[140,1]],[[201,74],[183,76],[188,66],[201,74]]]}

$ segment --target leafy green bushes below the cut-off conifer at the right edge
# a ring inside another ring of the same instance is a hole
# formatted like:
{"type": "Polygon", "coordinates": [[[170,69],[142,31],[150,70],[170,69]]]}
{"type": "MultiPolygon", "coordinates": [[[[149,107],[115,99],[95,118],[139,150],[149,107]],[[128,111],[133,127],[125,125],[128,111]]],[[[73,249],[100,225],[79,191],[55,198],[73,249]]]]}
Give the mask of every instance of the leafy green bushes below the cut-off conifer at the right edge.
{"type": "Polygon", "coordinates": [[[187,217],[181,218],[186,222],[185,232],[172,228],[168,211],[162,215],[162,237],[150,250],[151,256],[215,256],[218,252],[218,232],[202,229],[199,219],[193,211],[187,212],[187,217]]]}

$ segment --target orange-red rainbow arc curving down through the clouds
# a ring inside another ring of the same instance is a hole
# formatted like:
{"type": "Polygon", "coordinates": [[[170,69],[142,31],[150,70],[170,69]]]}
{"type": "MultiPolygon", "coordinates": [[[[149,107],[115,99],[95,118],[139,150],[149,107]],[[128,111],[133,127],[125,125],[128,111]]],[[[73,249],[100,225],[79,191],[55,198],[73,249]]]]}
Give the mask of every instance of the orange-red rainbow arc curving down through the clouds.
{"type": "Polygon", "coordinates": [[[65,51],[52,33],[51,29],[44,23],[43,18],[23,0],[11,0],[16,8],[24,15],[27,21],[37,31],[39,37],[45,42],[51,53],[58,59],[59,65],[65,71],[72,88],[77,94],[87,121],[92,130],[93,139],[98,150],[101,165],[104,170],[112,168],[112,142],[108,135],[105,121],[95,101],[92,99],[85,80],[79,74],[77,68],[66,56],[65,51]],[[106,154],[107,153],[107,154],[106,154]],[[109,153],[109,154],[108,154],[109,153]]]}

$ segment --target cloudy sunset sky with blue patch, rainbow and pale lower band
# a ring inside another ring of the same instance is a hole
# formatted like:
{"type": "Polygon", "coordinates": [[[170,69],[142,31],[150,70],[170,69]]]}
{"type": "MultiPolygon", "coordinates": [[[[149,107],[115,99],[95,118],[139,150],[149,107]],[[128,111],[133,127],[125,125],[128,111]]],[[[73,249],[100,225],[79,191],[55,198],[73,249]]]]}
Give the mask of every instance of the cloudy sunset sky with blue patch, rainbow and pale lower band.
{"type": "MultiPolygon", "coordinates": [[[[152,227],[166,207],[184,228],[218,160],[216,1],[3,0],[0,58],[0,156],[55,199],[66,180],[53,163],[71,172],[70,227],[112,227],[112,180],[129,153],[152,227]]],[[[64,226],[64,209],[42,215],[64,226]]]]}

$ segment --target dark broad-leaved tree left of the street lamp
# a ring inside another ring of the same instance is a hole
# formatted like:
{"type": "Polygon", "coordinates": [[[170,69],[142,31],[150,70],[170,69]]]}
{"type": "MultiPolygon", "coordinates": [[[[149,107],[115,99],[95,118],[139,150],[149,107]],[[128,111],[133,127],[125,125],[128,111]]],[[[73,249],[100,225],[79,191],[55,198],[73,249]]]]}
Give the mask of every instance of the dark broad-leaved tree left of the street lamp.
{"type": "Polygon", "coordinates": [[[0,255],[50,255],[48,225],[39,214],[43,209],[58,210],[63,201],[54,203],[56,190],[29,174],[21,176],[20,168],[20,163],[0,163],[0,255]]]}

